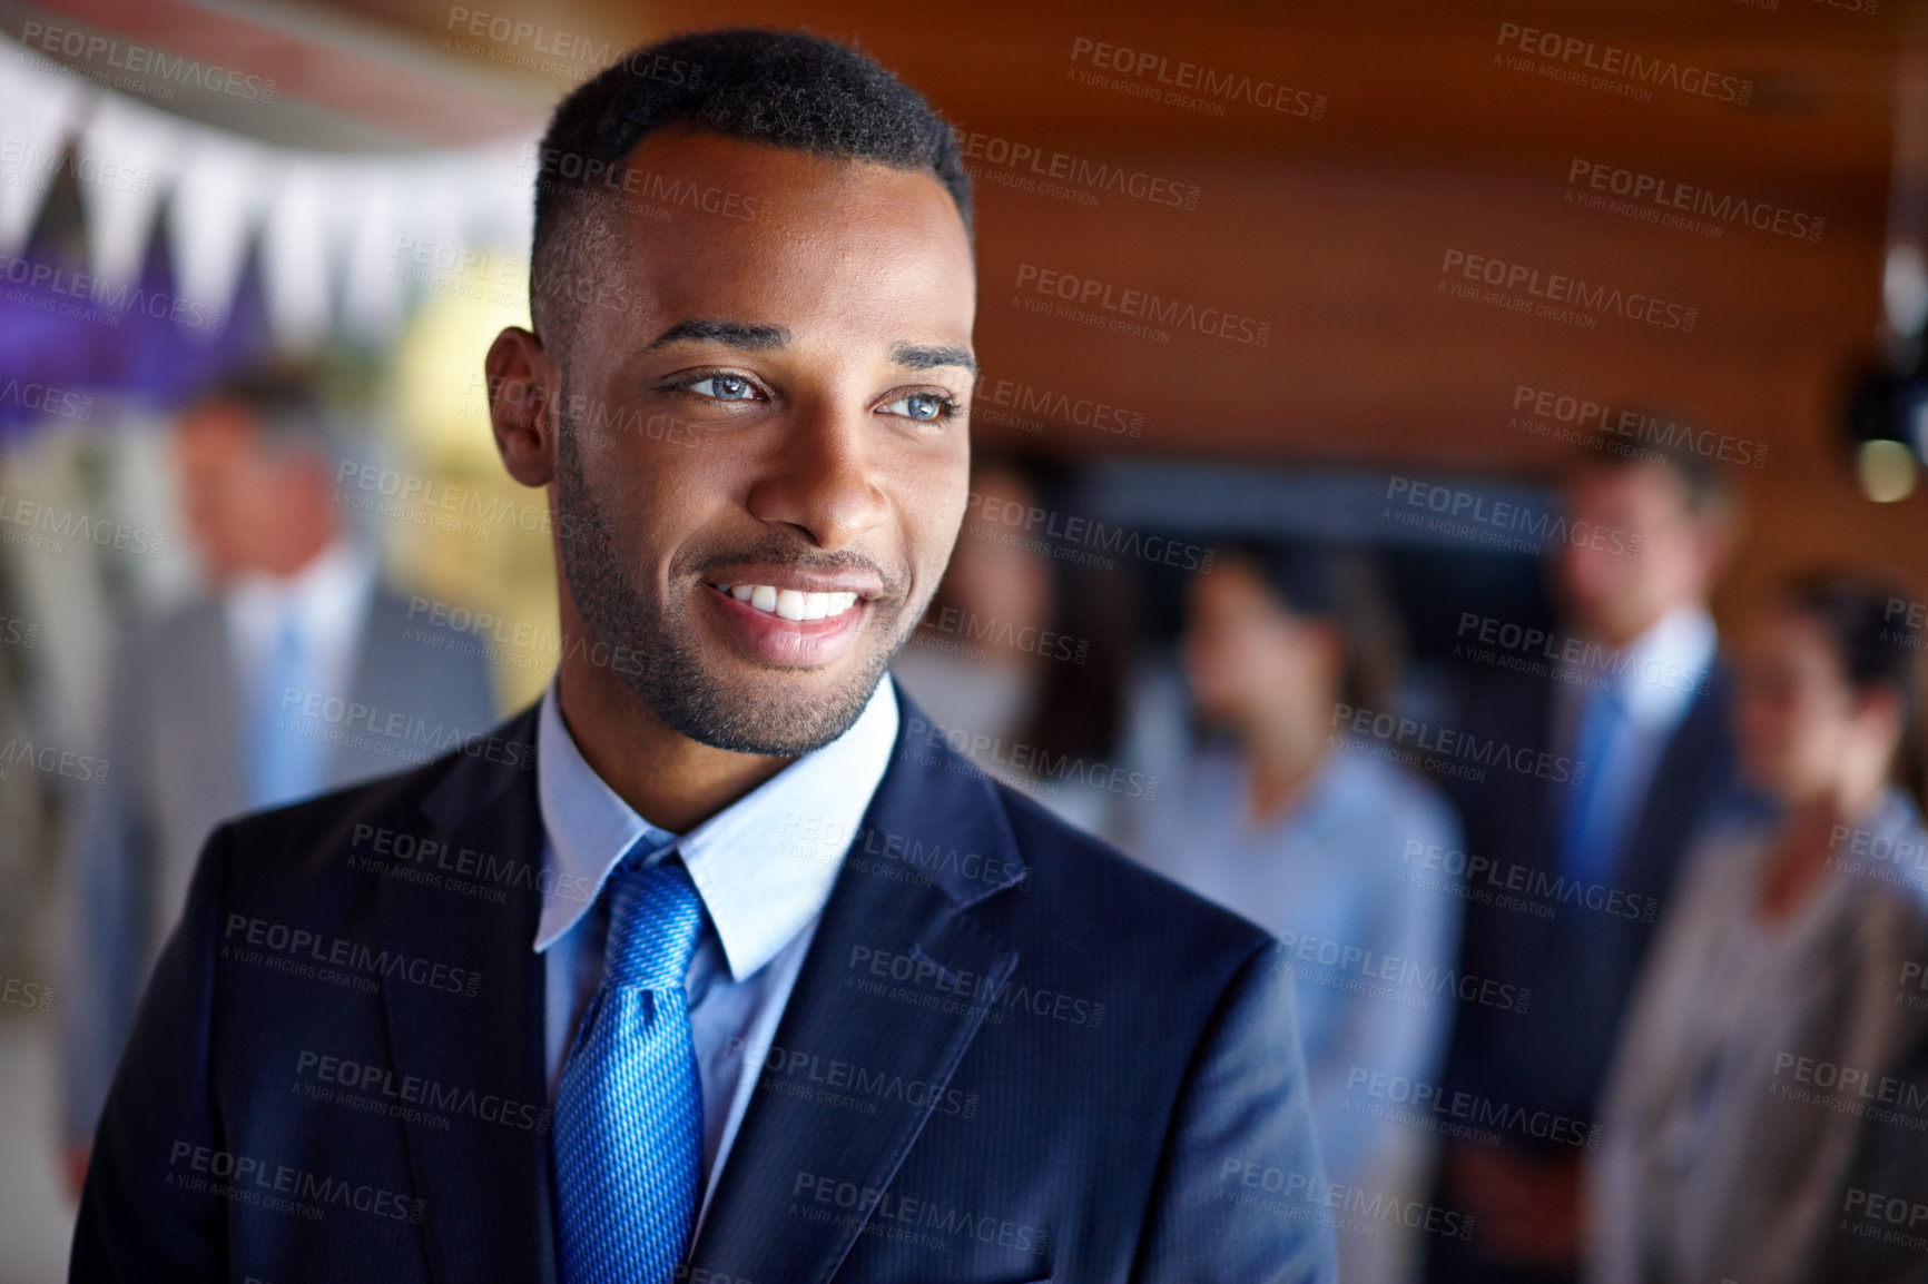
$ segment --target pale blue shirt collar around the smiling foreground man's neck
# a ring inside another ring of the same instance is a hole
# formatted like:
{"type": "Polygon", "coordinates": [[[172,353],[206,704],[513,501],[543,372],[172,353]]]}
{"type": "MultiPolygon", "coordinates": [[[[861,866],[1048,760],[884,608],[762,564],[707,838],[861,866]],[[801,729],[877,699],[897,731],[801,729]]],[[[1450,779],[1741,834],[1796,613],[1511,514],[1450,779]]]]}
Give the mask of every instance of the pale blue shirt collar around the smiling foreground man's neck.
{"type": "MultiPolygon", "coordinates": [[[[536,950],[565,935],[638,843],[675,844],[715,923],[731,977],[769,962],[829,900],[897,742],[897,690],[877,682],[858,719],[681,839],[636,814],[582,758],[563,723],[555,681],[536,715],[536,796],[548,833],[536,950]],[[831,833],[833,846],[794,839],[831,833]]],[[[654,858],[654,856],[652,856],[654,858]]]]}

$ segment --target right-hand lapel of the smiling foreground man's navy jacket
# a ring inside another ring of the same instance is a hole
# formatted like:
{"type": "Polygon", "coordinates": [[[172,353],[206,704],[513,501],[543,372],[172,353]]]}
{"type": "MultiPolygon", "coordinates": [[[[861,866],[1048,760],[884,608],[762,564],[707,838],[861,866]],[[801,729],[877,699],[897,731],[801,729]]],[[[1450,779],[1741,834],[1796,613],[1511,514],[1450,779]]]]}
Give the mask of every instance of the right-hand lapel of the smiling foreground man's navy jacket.
{"type": "MultiPolygon", "coordinates": [[[[898,700],[904,725],[914,725],[922,713],[902,692],[898,700]]],[[[810,1191],[823,1182],[862,1191],[891,1184],[1018,964],[1018,952],[970,910],[1024,877],[991,785],[949,748],[924,752],[900,736],[831,889],[775,1043],[846,1062],[873,1080],[924,1082],[929,1091],[922,1105],[877,1101],[875,1114],[756,1091],[704,1217],[690,1278],[706,1278],[704,1269],[750,1280],[821,1282],[837,1274],[875,1199],[852,1209],[814,1203],[810,1191]],[[1004,877],[968,877],[964,854],[1003,862],[987,868],[1004,877]],[[816,1218],[806,1209],[835,1217],[816,1218]]]]}

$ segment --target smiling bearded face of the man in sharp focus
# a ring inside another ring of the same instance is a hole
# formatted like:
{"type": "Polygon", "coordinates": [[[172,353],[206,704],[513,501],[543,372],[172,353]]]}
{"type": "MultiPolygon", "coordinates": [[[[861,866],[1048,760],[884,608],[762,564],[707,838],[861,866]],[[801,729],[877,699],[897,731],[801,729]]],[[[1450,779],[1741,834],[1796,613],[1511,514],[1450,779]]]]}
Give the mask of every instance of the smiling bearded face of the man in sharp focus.
{"type": "Polygon", "coordinates": [[[690,131],[632,166],[754,216],[594,206],[609,254],[544,335],[563,592],[677,733],[806,752],[862,711],[956,540],[970,243],[927,174],[690,131]]]}

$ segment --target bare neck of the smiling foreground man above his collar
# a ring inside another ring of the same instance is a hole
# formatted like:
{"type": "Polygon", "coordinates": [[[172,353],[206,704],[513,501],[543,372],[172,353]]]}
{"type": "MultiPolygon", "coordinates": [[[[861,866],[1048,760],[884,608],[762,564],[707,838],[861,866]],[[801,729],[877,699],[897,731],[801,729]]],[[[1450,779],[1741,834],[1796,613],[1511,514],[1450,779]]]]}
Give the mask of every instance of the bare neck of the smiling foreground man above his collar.
{"type": "Polygon", "coordinates": [[[563,652],[557,692],[582,760],[638,816],[669,833],[688,833],[794,762],[690,740],[578,648],[563,652]]]}

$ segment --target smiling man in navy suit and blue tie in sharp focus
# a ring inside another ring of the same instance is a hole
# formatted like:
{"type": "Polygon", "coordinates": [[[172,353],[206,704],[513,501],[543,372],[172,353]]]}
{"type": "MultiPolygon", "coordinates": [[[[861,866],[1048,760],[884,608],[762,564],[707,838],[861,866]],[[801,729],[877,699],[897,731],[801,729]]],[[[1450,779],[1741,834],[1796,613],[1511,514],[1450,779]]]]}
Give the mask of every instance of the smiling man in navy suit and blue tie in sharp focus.
{"type": "Polygon", "coordinates": [[[968,497],[951,131],[827,40],[667,40],[557,110],[532,262],[488,374],[555,682],[214,833],[71,1276],[1328,1280],[1384,1199],[1272,941],[885,677],[968,497]]]}

